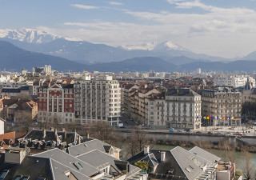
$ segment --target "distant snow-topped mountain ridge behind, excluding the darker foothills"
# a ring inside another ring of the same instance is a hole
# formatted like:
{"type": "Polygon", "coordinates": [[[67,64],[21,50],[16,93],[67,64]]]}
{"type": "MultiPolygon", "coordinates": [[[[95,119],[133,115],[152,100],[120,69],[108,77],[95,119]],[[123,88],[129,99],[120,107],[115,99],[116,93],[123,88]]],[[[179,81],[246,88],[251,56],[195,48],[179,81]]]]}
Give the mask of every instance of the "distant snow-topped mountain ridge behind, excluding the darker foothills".
{"type": "Polygon", "coordinates": [[[48,34],[41,30],[0,30],[0,40],[7,41],[23,50],[67,58],[75,62],[93,64],[97,62],[120,62],[134,57],[159,57],[168,60],[185,56],[197,60],[226,61],[225,58],[206,54],[195,54],[171,41],[149,42],[139,46],[108,46],[79,41],[74,38],[48,34]]]}

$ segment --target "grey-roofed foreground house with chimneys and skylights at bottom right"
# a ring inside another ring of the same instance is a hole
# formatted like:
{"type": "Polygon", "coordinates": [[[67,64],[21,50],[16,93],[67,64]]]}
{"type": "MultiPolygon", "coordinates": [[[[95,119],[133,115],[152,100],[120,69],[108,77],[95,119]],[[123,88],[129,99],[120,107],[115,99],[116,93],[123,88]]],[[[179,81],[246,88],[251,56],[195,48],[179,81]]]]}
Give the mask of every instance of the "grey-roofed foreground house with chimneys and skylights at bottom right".
{"type": "Polygon", "coordinates": [[[146,162],[149,165],[149,178],[152,179],[232,179],[235,165],[220,162],[214,154],[194,147],[185,150],[180,146],[173,150],[144,150],[129,158],[130,164],[146,162]]]}

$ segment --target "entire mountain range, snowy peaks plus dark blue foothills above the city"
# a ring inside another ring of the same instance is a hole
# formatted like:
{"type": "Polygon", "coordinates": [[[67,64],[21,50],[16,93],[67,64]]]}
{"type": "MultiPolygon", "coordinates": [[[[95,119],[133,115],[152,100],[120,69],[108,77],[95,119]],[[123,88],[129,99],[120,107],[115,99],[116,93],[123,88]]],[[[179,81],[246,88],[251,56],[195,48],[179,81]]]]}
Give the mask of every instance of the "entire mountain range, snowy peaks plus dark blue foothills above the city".
{"type": "Polygon", "coordinates": [[[20,71],[24,66],[52,65],[58,71],[245,71],[253,72],[256,52],[244,60],[194,54],[173,42],[149,42],[140,46],[107,46],[39,30],[0,30],[0,69],[20,71]],[[255,58],[254,58],[255,57],[255,58]]]}

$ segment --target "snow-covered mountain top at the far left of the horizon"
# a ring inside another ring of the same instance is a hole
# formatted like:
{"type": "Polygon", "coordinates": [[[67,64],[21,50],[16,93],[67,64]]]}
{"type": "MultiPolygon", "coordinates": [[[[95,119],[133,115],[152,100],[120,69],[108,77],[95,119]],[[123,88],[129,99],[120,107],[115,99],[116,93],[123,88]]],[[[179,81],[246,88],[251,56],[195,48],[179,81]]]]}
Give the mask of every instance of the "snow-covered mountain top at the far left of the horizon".
{"type": "Polygon", "coordinates": [[[25,28],[18,30],[0,29],[0,38],[8,38],[12,40],[18,40],[20,42],[29,42],[33,44],[52,42],[58,38],[70,41],[77,41],[77,39],[74,38],[66,38],[55,34],[50,34],[42,30],[33,30],[25,28]]]}

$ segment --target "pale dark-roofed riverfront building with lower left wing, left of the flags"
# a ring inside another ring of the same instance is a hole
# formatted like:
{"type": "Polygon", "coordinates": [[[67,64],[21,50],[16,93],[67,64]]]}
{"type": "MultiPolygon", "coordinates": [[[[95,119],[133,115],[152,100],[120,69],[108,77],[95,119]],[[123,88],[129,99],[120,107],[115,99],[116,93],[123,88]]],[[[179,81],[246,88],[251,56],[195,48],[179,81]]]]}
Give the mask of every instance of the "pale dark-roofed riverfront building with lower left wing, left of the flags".
{"type": "Polygon", "coordinates": [[[147,126],[199,129],[201,96],[190,89],[170,89],[146,101],[147,126]]]}

